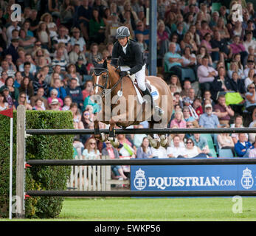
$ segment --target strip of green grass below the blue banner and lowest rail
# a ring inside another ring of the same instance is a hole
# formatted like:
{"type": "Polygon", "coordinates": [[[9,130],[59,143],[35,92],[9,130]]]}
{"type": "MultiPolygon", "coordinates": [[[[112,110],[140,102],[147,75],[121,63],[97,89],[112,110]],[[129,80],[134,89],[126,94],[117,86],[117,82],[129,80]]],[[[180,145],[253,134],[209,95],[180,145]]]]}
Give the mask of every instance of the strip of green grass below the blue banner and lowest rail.
{"type": "Polygon", "coordinates": [[[25,221],[256,221],[256,198],[243,198],[242,213],[232,212],[234,204],[232,198],[66,198],[58,218],[25,221]]]}

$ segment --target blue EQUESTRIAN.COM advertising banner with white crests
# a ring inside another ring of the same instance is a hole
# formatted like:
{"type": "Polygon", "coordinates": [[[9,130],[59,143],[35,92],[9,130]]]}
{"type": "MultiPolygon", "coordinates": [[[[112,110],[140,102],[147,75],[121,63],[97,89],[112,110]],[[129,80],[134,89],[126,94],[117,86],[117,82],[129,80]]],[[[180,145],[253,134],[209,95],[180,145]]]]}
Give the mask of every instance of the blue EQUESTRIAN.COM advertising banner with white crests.
{"type": "Polygon", "coordinates": [[[256,190],[256,164],[131,166],[131,190],[256,190]]]}

